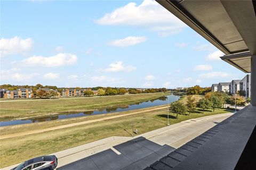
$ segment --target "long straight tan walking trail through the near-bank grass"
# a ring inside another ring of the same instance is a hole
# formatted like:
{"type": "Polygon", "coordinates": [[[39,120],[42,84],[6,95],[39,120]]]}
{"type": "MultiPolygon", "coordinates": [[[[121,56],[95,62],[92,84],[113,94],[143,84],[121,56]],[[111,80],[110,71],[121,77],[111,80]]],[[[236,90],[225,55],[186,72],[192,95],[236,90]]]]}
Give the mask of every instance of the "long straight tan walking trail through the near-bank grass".
{"type": "Polygon", "coordinates": [[[94,123],[94,122],[99,122],[99,121],[106,121],[110,120],[113,118],[118,118],[118,117],[124,117],[124,116],[130,116],[138,113],[144,113],[144,112],[150,112],[150,111],[157,111],[159,109],[166,108],[167,106],[162,106],[162,107],[157,107],[157,108],[150,108],[150,109],[143,109],[143,111],[138,111],[138,112],[132,112],[132,113],[127,113],[127,114],[121,114],[121,115],[116,115],[116,116],[110,116],[110,117],[103,117],[103,118],[98,118],[95,120],[90,120],[90,121],[83,121],[83,122],[77,122],[77,123],[70,123],[70,124],[65,124],[65,125],[60,125],[60,126],[54,126],[51,128],[45,128],[45,129],[38,129],[38,130],[31,130],[31,131],[26,131],[26,132],[20,132],[20,133],[12,133],[12,134],[6,134],[6,135],[1,135],[0,139],[7,139],[7,138],[13,138],[13,137],[20,137],[23,135],[28,135],[28,134],[34,134],[34,133],[42,133],[42,132],[47,132],[47,131],[53,131],[53,130],[58,130],[58,129],[63,129],[63,128],[70,128],[73,126],[77,125],[82,125],[82,124],[88,124],[88,123],[94,123]]]}

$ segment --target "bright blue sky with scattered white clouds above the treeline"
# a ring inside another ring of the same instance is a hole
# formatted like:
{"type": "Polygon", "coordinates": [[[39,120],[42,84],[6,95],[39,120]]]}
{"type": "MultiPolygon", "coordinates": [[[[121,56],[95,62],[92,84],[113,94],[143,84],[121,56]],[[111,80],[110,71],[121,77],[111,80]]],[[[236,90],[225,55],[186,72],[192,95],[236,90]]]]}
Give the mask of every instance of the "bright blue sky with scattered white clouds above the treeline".
{"type": "Polygon", "coordinates": [[[1,1],[1,84],[206,87],[245,73],[161,5],[1,1]]]}

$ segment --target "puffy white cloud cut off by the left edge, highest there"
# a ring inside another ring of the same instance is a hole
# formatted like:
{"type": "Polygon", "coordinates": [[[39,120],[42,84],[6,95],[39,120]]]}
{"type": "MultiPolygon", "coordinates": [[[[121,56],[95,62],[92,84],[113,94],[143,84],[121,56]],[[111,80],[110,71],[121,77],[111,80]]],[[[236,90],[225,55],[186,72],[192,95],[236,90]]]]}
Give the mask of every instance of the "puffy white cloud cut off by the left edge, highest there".
{"type": "Polygon", "coordinates": [[[0,39],[0,55],[25,54],[32,47],[33,41],[31,38],[20,39],[19,37],[1,38],[0,39]]]}

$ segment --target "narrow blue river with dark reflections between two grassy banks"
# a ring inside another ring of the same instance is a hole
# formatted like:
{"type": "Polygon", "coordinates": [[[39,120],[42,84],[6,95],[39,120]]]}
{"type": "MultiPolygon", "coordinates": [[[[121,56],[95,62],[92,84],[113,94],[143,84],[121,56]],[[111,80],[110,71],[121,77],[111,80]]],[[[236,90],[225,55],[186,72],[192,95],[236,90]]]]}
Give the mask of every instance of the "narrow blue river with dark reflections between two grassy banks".
{"type": "Polygon", "coordinates": [[[111,107],[111,108],[105,108],[105,109],[98,109],[96,111],[87,111],[87,112],[79,112],[79,113],[72,113],[72,114],[64,113],[61,115],[33,117],[33,118],[25,119],[25,120],[3,121],[3,122],[0,122],[0,126],[53,121],[53,120],[60,120],[60,119],[72,118],[72,117],[115,113],[115,112],[130,111],[130,110],[140,109],[140,108],[153,107],[153,106],[161,106],[161,105],[167,104],[167,97],[169,98],[169,103],[172,103],[173,101],[177,101],[180,98],[179,96],[169,95],[169,96],[159,97],[159,98],[156,98],[153,100],[148,100],[148,101],[144,101],[144,102],[140,102],[140,103],[136,103],[136,104],[132,104],[132,105],[127,105],[125,107],[111,107]]]}

